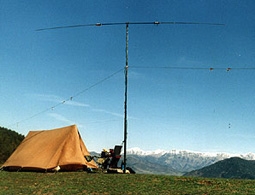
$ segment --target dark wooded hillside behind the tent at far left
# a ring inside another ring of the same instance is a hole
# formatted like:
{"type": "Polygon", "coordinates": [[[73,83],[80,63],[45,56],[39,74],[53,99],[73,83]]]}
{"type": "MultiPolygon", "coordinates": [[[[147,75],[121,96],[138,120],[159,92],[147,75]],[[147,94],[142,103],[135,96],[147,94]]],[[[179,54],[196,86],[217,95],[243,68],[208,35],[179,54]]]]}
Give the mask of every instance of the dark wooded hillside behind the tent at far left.
{"type": "Polygon", "coordinates": [[[0,164],[4,163],[25,137],[0,127],[0,164]]]}

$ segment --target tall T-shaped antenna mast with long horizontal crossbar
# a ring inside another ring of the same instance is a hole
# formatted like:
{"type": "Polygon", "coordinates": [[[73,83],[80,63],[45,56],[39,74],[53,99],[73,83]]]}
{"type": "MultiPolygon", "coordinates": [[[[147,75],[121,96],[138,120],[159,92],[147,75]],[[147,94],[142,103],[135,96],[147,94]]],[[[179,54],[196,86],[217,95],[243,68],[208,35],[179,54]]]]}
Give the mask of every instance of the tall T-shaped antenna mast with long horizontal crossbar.
{"type": "Polygon", "coordinates": [[[127,98],[128,98],[128,38],[129,38],[129,24],[133,25],[213,25],[213,26],[223,26],[224,24],[220,23],[201,23],[201,22],[119,22],[119,23],[95,23],[95,24],[78,24],[70,26],[56,26],[50,28],[41,28],[36,31],[45,31],[45,30],[57,30],[64,28],[80,28],[80,27],[89,27],[89,26],[116,26],[116,25],[126,25],[126,65],[125,65],[125,91],[124,91],[124,173],[126,173],[127,166],[127,98]]]}

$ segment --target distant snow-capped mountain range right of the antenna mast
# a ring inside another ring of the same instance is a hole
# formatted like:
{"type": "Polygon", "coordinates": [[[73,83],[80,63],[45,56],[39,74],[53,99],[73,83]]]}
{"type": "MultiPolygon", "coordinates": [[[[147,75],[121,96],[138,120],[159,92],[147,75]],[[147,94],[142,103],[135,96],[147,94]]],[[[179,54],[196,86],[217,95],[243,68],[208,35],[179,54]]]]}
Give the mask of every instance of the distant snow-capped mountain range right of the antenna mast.
{"type": "Polygon", "coordinates": [[[180,150],[144,151],[140,148],[130,148],[127,150],[127,165],[137,173],[182,175],[230,157],[255,160],[254,153],[237,155],[180,150]]]}

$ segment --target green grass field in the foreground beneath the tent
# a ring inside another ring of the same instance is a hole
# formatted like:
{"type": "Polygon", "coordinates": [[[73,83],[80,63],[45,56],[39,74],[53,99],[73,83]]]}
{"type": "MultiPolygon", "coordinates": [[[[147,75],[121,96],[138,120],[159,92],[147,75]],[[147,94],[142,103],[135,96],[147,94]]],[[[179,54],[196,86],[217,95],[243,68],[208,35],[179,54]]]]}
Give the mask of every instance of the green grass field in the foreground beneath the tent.
{"type": "Polygon", "coordinates": [[[0,194],[255,194],[255,180],[1,171],[0,194]]]}

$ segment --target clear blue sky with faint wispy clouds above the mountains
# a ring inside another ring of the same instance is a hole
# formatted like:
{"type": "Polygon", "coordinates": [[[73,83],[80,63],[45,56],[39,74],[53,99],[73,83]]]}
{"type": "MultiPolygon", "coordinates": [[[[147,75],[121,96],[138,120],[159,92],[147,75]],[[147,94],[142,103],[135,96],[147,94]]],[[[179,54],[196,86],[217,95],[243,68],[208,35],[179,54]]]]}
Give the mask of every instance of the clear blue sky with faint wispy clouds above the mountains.
{"type": "Polygon", "coordinates": [[[36,29],[223,23],[129,26],[128,148],[255,152],[254,9],[253,0],[1,0],[0,126],[26,135],[77,124],[94,151],[123,140],[125,25],[36,29]]]}

